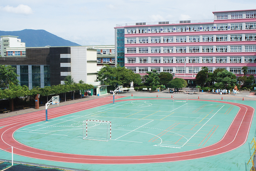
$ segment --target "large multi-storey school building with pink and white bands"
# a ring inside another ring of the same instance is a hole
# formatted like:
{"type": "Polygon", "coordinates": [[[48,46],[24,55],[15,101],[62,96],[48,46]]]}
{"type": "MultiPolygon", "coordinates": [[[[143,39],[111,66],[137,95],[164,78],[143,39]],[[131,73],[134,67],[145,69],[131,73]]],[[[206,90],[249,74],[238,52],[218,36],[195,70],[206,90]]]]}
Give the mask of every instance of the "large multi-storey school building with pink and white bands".
{"type": "Polygon", "coordinates": [[[125,67],[134,73],[157,70],[192,81],[203,66],[210,72],[225,68],[237,77],[248,66],[247,74],[256,77],[256,9],[213,14],[213,20],[116,25],[117,60],[123,32],[125,67]]]}

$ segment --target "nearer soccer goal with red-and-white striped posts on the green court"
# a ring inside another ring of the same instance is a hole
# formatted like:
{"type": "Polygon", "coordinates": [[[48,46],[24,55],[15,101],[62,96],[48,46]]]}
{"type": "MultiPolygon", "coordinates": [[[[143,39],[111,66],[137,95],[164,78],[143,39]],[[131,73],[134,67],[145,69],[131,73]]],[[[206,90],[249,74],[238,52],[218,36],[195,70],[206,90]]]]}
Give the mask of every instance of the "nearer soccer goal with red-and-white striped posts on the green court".
{"type": "Polygon", "coordinates": [[[83,139],[97,141],[111,140],[111,121],[84,120],[83,139]]]}

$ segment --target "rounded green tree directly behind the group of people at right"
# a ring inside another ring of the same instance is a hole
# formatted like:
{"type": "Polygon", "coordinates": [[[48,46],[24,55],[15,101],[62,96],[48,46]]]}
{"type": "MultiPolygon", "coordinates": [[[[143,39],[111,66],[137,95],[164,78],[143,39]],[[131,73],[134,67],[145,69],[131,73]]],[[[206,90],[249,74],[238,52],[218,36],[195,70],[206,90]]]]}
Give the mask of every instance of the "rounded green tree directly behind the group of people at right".
{"type": "Polygon", "coordinates": [[[236,75],[227,70],[223,70],[221,72],[218,72],[216,80],[217,83],[222,84],[226,88],[227,85],[235,85],[236,75]]]}

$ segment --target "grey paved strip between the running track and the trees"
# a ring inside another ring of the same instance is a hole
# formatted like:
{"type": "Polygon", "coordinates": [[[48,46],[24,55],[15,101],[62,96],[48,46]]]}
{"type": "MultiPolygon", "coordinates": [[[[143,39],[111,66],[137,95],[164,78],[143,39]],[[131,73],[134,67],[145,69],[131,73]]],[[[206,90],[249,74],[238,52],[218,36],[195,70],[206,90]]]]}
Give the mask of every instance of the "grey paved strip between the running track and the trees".
{"type": "MultiPolygon", "coordinates": [[[[198,99],[198,97],[200,99],[216,99],[216,100],[254,100],[256,101],[256,92],[254,91],[241,91],[240,93],[238,93],[236,96],[234,95],[216,95],[216,94],[212,94],[212,93],[207,93],[207,92],[199,92],[197,94],[194,95],[189,95],[188,94],[188,99],[198,99]]],[[[148,91],[135,91],[135,92],[128,92],[128,91],[124,91],[124,92],[119,92],[118,95],[115,96],[138,96],[138,97],[166,97],[166,98],[170,98],[173,93],[168,93],[168,90],[165,91],[160,91],[160,92],[148,92],[148,91]]],[[[109,96],[109,95],[106,95],[109,96]]],[[[87,100],[91,100],[91,99],[95,99],[95,98],[101,98],[101,97],[105,97],[105,96],[90,96],[90,97],[85,97],[82,99],[77,99],[77,100],[70,100],[70,101],[66,101],[66,102],[61,102],[60,106],[63,105],[68,105],[68,104],[73,104],[73,103],[78,103],[81,101],[87,101],[87,100]]],[[[175,94],[175,98],[186,98],[185,94],[175,94]]],[[[40,99],[39,99],[40,101],[40,99]]],[[[57,107],[57,105],[49,105],[48,108],[54,108],[57,107]]],[[[20,115],[20,114],[24,114],[24,113],[30,113],[30,112],[34,112],[34,111],[38,111],[38,110],[45,110],[45,106],[41,106],[39,107],[39,109],[35,109],[33,108],[29,108],[29,109],[16,109],[13,112],[9,112],[9,113],[4,113],[4,114],[0,114],[0,119],[1,118],[6,118],[9,116],[15,116],[15,115],[20,115]]]]}

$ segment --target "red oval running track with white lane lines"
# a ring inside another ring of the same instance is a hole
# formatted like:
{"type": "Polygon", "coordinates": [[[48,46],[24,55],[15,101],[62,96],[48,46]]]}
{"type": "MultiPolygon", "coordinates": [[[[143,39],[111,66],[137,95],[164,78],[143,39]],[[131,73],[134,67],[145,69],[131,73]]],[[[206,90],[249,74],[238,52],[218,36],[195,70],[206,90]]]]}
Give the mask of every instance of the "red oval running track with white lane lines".
{"type": "MultiPolygon", "coordinates": [[[[116,96],[119,98],[118,96],[116,96]]],[[[121,97],[120,97],[121,98],[121,97]]],[[[144,99],[124,99],[117,101],[128,100],[147,100],[147,99],[168,99],[168,98],[144,98],[144,99]]],[[[49,119],[59,116],[67,115],[70,113],[86,110],[112,103],[112,97],[102,97],[99,99],[89,100],[85,102],[75,103],[66,106],[60,106],[58,108],[48,109],[49,119]],[[99,104],[100,102],[100,104],[99,104]]],[[[190,99],[200,100],[200,99],[190,99]]],[[[200,100],[219,102],[215,100],[200,100]]],[[[239,107],[239,111],[236,117],[232,121],[228,130],[222,139],[212,145],[195,149],[191,151],[170,153],[170,154],[156,154],[156,155],[141,155],[141,156],[96,156],[96,155],[80,155],[80,154],[67,154],[52,152],[47,150],[40,150],[17,142],[13,133],[19,128],[45,120],[45,111],[27,113],[19,116],[13,116],[9,118],[1,119],[0,126],[5,126],[0,129],[1,139],[0,148],[2,150],[14,147],[14,154],[31,157],[41,160],[68,162],[68,163],[83,163],[83,164],[143,164],[143,163],[163,163],[174,162],[182,160],[191,160],[203,157],[209,157],[234,150],[243,145],[249,133],[251,121],[253,118],[254,108],[231,102],[221,102],[225,104],[231,104],[239,107]]],[[[11,150],[8,149],[8,152],[11,150]]]]}

